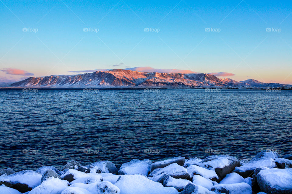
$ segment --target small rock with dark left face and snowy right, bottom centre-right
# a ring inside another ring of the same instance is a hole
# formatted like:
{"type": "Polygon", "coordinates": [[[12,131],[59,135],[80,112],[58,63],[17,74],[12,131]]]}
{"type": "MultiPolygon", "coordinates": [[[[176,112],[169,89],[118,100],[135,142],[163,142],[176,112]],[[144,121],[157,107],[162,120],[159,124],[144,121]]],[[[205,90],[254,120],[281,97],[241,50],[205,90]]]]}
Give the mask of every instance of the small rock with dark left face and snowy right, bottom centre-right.
{"type": "Polygon", "coordinates": [[[178,190],[179,192],[183,190],[183,188],[185,188],[185,186],[189,183],[191,183],[191,181],[186,180],[186,179],[175,179],[167,174],[164,174],[159,180],[158,182],[162,183],[162,185],[164,187],[174,187],[176,188],[176,190],[178,190]]]}

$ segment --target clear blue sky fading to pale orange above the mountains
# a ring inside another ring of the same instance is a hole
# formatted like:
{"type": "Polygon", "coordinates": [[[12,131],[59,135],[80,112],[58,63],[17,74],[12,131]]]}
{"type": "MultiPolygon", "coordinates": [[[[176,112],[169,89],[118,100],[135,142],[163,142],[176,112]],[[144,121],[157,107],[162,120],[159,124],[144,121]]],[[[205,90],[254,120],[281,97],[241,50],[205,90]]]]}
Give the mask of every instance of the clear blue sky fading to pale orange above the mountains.
{"type": "Polygon", "coordinates": [[[0,0],[0,82],[151,67],[292,84],[291,12],[269,0],[0,0]]]}

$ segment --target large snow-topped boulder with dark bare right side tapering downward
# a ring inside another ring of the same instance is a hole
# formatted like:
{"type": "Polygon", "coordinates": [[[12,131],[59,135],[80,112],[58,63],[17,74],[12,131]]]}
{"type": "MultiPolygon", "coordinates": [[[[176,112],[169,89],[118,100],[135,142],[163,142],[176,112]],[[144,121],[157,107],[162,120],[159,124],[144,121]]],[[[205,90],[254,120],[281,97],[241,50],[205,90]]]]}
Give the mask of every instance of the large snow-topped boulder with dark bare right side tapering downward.
{"type": "Polygon", "coordinates": [[[199,166],[215,170],[216,174],[219,176],[219,181],[238,165],[239,160],[229,155],[208,156],[203,161],[199,162],[199,166]]]}

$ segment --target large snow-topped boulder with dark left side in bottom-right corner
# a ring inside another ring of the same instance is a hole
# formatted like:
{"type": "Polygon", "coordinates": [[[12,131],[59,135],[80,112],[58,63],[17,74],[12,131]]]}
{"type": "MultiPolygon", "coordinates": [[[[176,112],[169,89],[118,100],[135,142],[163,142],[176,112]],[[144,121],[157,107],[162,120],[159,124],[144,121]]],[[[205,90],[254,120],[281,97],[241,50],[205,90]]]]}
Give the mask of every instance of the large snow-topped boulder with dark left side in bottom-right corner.
{"type": "Polygon", "coordinates": [[[292,193],[292,168],[288,169],[265,169],[257,176],[257,182],[263,192],[268,194],[291,194],[292,193]]]}

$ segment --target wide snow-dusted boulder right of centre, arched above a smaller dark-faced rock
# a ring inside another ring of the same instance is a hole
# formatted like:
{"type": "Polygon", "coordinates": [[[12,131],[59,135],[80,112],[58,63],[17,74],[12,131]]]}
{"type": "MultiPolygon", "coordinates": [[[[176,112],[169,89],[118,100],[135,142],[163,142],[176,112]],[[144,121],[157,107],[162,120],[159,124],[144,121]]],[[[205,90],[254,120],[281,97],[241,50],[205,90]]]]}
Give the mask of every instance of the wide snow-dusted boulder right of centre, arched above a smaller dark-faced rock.
{"type": "Polygon", "coordinates": [[[149,174],[149,179],[157,182],[164,174],[168,174],[176,179],[191,179],[188,171],[177,163],[172,163],[162,169],[155,169],[149,174]]]}

